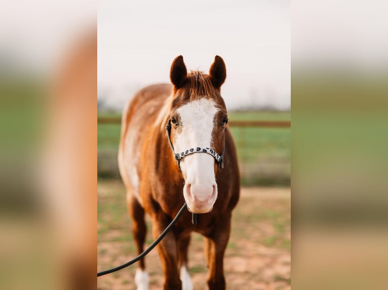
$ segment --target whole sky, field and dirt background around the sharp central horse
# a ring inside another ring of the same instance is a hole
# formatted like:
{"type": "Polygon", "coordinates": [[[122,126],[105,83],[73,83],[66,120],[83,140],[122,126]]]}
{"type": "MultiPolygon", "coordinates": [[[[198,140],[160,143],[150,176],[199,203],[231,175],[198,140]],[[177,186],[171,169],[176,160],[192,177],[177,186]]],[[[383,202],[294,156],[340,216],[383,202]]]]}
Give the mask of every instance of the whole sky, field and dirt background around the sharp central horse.
{"type": "MultiPolygon", "coordinates": [[[[117,165],[121,112],[140,88],[170,83],[172,61],[208,73],[226,64],[221,95],[238,150],[242,194],[225,256],[228,289],[289,289],[291,184],[290,2],[109,1],[98,6],[98,269],[134,257],[117,165]]],[[[146,244],[153,240],[147,219],[146,244]]],[[[193,234],[189,270],[206,285],[202,236],[193,234]]],[[[146,258],[161,288],[157,251],[146,258]]],[[[99,289],[135,289],[136,267],[98,279],[99,289]]]]}

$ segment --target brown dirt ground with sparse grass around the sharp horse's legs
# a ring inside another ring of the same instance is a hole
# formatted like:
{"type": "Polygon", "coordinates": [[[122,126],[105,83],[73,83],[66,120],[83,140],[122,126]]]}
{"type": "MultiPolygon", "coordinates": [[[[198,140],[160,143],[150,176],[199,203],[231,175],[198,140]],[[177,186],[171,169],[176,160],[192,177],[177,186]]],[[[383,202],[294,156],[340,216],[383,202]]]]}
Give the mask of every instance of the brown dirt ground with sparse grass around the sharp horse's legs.
{"type": "MultiPolygon", "coordinates": [[[[290,188],[242,188],[234,211],[232,230],[224,258],[227,289],[291,289],[291,190],[290,188]]],[[[152,242],[148,219],[146,245],[152,242]]],[[[98,268],[101,271],[135,257],[125,208],[124,188],[119,181],[98,184],[98,268]]],[[[189,271],[194,289],[207,289],[207,268],[202,236],[192,234],[189,271]]],[[[154,249],[146,257],[150,289],[162,289],[163,273],[154,249]]],[[[99,277],[98,289],[136,289],[136,265],[99,277]]]]}

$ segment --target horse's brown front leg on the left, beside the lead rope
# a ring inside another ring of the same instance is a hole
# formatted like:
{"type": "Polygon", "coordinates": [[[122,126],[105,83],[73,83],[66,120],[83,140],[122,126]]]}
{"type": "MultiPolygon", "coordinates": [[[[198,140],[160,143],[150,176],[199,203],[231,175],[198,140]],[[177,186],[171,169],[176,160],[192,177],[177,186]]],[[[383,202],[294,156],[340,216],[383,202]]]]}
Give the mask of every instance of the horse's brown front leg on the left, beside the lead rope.
{"type": "MultiPolygon", "coordinates": [[[[154,238],[158,238],[162,231],[171,221],[167,220],[164,214],[156,214],[152,217],[152,232],[154,238]]],[[[158,244],[159,257],[165,276],[165,290],[181,290],[182,284],[178,273],[177,240],[175,234],[170,230],[158,244]]]]}

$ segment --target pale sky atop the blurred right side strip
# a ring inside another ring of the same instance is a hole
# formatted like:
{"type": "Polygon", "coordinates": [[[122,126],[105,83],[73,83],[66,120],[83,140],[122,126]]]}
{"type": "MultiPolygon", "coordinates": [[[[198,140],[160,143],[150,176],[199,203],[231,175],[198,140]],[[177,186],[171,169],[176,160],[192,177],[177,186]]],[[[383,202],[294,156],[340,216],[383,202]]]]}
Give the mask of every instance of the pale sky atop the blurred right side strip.
{"type": "Polygon", "coordinates": [[[385,0],[293,1],[293,65],[386,70],[387,10],[385,0]]]}

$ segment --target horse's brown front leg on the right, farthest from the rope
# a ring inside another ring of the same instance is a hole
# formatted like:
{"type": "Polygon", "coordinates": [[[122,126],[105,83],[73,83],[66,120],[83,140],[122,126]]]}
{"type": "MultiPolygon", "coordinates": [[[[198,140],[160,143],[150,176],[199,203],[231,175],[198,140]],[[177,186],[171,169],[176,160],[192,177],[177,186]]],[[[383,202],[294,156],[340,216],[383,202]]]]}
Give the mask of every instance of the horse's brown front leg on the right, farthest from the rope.
{"type": "Polygon", "coordinates": [[[224,290],[225,277],[223,274],[223,257],[230,234],[230,214],[222,217],[214,226],[214,232],[209,236],[208,260],[209,275],[208,285],[210,290],[224,290]]]}

